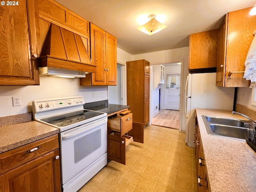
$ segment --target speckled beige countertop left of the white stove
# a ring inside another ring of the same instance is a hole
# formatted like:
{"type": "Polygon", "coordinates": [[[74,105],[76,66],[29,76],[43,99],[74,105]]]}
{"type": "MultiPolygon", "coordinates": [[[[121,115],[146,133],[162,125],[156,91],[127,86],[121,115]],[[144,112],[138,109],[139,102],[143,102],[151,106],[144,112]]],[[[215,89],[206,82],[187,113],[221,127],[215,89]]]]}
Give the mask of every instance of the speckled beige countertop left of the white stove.
{"type": "Polygon", "coordinates": [[[58,128],[37,121],[0,126],[0,153],[58,134],[58,132],[58,128]]]}

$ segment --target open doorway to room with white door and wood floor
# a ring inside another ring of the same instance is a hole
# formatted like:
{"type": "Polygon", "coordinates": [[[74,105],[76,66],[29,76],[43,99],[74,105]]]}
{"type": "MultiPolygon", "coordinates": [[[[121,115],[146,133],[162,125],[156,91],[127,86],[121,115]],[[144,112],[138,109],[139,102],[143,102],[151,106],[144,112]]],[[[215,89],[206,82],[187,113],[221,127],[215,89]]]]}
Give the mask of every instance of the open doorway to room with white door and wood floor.
{"type": "MultiPolygon", "coordinates": [[[[164,84],[152,86],[151,124],[179,129],[181,62],[162,64],[165,67],[164,84]],[[156,95],[157,94],[157,95],[156,95]],[[155,101],[155,98],[157,100],[155,101]],[[158,109],[157,107],[158,106],[158,109]],[[158,111],[157,111],[158,110],[158,111]]],[[[152,82],[154,72],[152,72],[152,82]]]]}

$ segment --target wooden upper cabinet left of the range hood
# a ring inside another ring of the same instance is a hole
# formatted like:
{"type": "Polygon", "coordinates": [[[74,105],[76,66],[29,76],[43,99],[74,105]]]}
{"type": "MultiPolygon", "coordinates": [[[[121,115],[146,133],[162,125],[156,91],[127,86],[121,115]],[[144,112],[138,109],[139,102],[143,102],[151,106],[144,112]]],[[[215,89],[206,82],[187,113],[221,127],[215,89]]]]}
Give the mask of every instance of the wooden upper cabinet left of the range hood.
{"type": "Polygon", "coordinates": [[[0,9],[0,85],[39,85],[35,2],[18,3],[0,9]]]}

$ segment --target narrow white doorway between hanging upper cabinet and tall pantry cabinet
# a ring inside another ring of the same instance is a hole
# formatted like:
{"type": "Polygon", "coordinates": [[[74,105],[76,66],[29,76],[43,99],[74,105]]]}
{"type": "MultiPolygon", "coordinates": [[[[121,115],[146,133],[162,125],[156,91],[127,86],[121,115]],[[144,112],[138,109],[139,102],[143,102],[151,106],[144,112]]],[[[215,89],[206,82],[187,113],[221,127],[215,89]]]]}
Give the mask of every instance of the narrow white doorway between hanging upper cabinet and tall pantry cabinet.
{"type": "Polygon", "coordinates": [[[116,76],[116,86],[108,86],[108,102],[111,104],[123,104],[123,81],[122,81],[122,73],[123,66],[117,64],[117,76],[116,76]]]}

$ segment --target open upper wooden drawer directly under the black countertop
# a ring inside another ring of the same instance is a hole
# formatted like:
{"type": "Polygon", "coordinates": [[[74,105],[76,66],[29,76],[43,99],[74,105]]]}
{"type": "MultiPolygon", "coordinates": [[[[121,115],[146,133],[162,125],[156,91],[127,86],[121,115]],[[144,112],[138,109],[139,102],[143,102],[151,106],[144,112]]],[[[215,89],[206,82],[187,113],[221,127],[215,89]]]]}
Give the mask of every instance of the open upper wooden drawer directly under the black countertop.
{"type": "Polygon", "coordinates": [[[121,136],[132,130],[132,113],[108,117],[108,129],[120,132],[121,136]]]}

